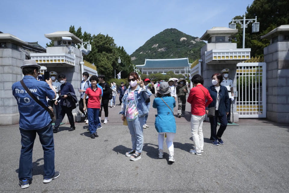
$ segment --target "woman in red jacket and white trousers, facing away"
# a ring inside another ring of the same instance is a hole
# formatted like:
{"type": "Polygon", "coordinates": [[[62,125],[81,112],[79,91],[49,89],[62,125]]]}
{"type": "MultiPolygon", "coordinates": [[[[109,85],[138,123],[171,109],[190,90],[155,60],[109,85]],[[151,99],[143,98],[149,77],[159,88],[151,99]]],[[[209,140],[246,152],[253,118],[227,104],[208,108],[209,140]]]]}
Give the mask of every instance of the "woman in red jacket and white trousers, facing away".
{"type": "Polygon", "coordinates": [[[191,133],[195,142],[195,148],[190,150],[190,153],[202,155],[204,151],[204,136],[203,136],[203,120],[205,118],[205,107],[207,107],[213,99],[209,91],[203,86],[204,79],[199,74],[196,74],[191,79],[194,84],[188,96],[188,103],[191,104],[191,133]],[[207,102],[206,102],[207,100],[207,102]]]}

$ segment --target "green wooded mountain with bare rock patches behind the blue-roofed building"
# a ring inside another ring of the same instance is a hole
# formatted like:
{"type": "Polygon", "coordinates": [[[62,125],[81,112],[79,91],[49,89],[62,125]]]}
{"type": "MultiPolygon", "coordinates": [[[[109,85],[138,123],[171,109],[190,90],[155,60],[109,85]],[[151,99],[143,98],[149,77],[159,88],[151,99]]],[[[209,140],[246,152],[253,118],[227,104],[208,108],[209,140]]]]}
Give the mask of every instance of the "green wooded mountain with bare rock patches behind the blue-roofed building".
{"type": "Polygon", "coordinates": [[[189,57],[192,63],[200,58],[206,43],[198,37],[187,35],[175,28],[163,30],[133,52],[132,64],[143,65],[145,59],[173,59],[189,57]]]}

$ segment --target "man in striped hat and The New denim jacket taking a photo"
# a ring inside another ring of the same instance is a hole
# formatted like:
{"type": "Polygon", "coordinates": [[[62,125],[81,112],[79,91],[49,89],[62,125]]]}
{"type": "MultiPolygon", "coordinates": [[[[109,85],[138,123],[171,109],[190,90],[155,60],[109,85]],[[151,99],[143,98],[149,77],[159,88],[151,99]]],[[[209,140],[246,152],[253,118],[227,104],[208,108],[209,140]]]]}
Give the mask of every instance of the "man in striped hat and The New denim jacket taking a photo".
{"type": "MultiPolygon", "coordinates": [[[[53,100],[56,92],[52,80],[37,81],[38,65],[35,60],[24,60],[21,66],[23,82],[36,98],[47,106],[46,97],[53,100]]],[[[19,129],[21,134],[21,153],[19,160],[19,185],[28,188],[32,181],[32,150],[36,133],[44,151],[43,183],[51,182],[60,174],[54,170],[54,139],[49,113],[33,100],[20,82],[12,85],[13,96],[19,110],[19,129]]]]}

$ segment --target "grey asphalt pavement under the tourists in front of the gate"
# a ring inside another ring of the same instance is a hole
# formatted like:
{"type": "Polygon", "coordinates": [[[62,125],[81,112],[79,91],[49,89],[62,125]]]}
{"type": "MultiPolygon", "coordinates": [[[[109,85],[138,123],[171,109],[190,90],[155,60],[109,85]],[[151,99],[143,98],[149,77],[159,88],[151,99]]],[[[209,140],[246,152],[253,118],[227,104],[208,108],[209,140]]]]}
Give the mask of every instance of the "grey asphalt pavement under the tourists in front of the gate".
{"type": "MultiPolygon", "coordinates": [[[[190,110],[189,104],[186,108],[190,110]]],[[[84,123],[76,123],[71,132],[69,124],[59,128],[54,142],[60,177],[48,184],[42,183],[43,150],[36,138],[33,181],[24,190],[18,186],[19,125],[0,126],[0,192],[288,192],[288,124],[240,119],[240,126],[224,132],[224,145],[214,146],[210,123],[204,122],[204,153],[197,156],[189,153],[193,141],[187,112],[176,118],[176,162],[170,164],[166,145],[164,158],[157,156],[156,110],[151,108],[141,159],[130,161],[124,155],[131,148],[129,130],[119,110],[109,108],[109,123],[95,139],[84,123]]]]}

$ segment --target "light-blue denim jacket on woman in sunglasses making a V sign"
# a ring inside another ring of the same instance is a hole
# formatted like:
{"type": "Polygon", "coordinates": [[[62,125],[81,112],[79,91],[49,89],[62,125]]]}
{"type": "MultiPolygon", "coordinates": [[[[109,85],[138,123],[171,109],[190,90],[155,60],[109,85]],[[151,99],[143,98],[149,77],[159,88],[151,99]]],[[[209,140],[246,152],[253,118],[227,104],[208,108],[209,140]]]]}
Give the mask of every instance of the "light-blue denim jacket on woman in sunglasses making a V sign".
{"type": "MultiPolygon", "coordinates": [[[[145,104],[145,100],[147,100],[148,97],[151,96],[151,91],[148,90],[147,87],[145,87],[145,89],[146,90],[144,90],[138,86],[134,91],[135,104],[136,104],[136,107],[138,109],[138,116],[139,117],[148,114],[148,108],[145,104]]],[[[127,97],[128,97],[130,92],[131,92],[131,87],[129,89],[127,89],[123,95],[121,111],[119,112],[119,114],[123,114],[126,116],[127,97]]]]}

